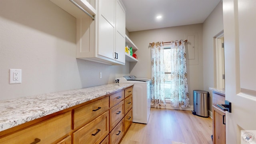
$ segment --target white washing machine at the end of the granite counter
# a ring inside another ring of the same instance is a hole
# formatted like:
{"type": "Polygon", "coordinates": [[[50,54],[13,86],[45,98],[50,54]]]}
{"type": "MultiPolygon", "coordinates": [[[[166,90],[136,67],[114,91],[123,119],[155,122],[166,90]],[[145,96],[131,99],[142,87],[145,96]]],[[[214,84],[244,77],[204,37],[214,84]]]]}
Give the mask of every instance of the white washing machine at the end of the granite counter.
{"type": "Polygon", "coordinates": [[[151,108],[151,80],[123,76],[119,83],[134,83],[132,93],[132,122],[147,124],[151,108]]]}

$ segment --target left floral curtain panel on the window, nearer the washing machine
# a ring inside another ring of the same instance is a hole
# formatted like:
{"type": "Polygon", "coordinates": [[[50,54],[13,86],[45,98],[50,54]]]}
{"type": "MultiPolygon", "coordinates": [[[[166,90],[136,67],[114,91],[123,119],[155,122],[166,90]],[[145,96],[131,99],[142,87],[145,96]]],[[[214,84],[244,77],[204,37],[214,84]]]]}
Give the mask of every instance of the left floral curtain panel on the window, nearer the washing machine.
{"type": "Polygon", "coordinates": [[[151,47],[151,105],[165,105],[164,96],[164,43],[153,42],[151,47]]]}

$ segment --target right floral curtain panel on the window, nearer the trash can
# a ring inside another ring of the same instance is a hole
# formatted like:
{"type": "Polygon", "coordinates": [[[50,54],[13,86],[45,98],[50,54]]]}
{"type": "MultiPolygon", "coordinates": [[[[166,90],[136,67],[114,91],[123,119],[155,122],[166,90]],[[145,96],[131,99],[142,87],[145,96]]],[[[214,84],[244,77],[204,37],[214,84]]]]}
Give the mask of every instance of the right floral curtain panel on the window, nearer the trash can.
{"type": "Polygon", "coordinates": [[[190,106],[188,96],[186,49],[184,40],[172,41],[170,52],[171,80],[170,80],[170,101],[171,106],[190,106]]]}

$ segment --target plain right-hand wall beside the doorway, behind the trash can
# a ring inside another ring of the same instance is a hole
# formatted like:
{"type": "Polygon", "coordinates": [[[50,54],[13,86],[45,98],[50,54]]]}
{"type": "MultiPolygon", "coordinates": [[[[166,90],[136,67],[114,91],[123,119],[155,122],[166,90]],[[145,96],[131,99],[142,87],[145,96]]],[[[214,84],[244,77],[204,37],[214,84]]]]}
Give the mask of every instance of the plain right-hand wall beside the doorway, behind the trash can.
{"type": "MultiPolygon", "coordinates": [[[[222,1],[203,23],[203,65],[204,90],[210,92],[209,109],[212,111],[212,91],[209,87],[216,86],[216,68],[214,56],[214,37],[223,31],[222,1]]],[[[225,36],[224,36],[225,40],[225,36]]]]}

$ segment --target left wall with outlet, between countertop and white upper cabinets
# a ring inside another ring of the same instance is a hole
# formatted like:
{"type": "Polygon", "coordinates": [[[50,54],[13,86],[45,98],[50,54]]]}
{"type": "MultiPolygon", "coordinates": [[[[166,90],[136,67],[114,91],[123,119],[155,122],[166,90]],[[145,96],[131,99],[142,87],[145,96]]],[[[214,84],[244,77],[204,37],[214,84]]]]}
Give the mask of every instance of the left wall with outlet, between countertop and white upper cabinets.
{"type": "Polygon", "coordinates": [[[0,100],[108,84],[128,73],[127,62],[76,59],[76,19],[50,0],[1,1],[0,100]],[[21,84],[9,84],[10,68],[22,69],[21,84]]]}

